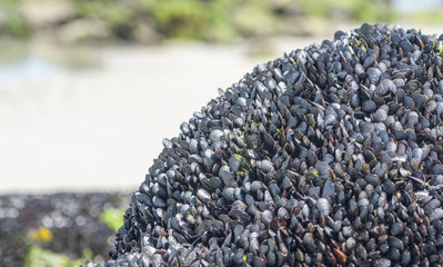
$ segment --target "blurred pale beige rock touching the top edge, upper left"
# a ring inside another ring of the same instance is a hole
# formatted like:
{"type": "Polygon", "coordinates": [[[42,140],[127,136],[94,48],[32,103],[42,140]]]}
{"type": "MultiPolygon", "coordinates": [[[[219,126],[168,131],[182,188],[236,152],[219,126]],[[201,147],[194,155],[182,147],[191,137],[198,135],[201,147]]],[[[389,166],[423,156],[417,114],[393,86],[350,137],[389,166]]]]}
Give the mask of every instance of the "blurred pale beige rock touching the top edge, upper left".
{"type": "Polygon", "coordinates": [[[20,12],[24,20],[34,29],[44,28],[68,21],[75,16],[75,11],[69,1],[23,1],[20,12]]]}

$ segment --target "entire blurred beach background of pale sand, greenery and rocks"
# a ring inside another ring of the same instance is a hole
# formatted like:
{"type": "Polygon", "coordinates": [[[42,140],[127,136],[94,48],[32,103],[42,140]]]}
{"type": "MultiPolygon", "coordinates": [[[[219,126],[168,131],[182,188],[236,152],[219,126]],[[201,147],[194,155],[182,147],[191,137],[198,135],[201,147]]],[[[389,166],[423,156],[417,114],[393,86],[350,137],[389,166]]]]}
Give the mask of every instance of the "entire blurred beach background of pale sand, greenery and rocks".
{"type": "Polygon", "coordinates": [[[105,259],[162,139],[218,88],[363,22],[442,33],[443,1],[0,0],[0,265],[105,259]]]}

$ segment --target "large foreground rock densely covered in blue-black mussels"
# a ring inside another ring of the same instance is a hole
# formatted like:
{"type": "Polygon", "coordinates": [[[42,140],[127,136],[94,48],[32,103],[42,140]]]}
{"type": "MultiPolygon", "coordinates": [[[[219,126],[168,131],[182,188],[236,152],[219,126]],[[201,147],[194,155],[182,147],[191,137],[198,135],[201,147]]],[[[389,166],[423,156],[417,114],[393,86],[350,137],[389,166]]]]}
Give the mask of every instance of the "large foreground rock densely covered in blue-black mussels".
{"type": "Polygon", "coordinates": [[[363,24],[256,66],[164,139],[100,266],[442,265],[442,47],[363,24]]]}

